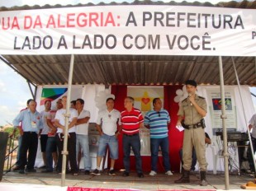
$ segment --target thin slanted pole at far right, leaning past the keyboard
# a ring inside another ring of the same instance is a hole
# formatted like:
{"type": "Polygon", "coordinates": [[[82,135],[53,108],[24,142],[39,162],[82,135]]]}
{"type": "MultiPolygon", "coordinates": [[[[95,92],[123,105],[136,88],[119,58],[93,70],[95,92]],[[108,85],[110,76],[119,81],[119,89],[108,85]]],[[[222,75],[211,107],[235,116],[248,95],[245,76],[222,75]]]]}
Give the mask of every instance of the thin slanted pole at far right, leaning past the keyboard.
{"type": "Polygon", "coordinates": [[[247,133],[248,133],[248,137],[249,137],[249,146],[252,148],[251,152],[252,152],[252,156],[253,156],[253,159],[254,159],[254,172],[255,172],[256,171],[256,165],[255,165],[254,147],[253,147],[251,135],[249,133],[249,126],[247,125],[247,121],[246,121],[244,102],[243,102],[242,95],[241,95],[241,88],[240,88],[239,78],[238,78],[237,71],[236,71],[236,68],[235,68],[235,61],[234,61],[233,57],[231,57],[231,58],[232,58],[232,63],[233,63],[233,67],[234,67],[234,70],[235,70],[235,77],[236,77],[237,85],[238,85],[238,88],[239,88],[240,100],[241,100],[242,107],[243,107],[244,121],[245,121],[245,125],[247,127],[247,133]]]}

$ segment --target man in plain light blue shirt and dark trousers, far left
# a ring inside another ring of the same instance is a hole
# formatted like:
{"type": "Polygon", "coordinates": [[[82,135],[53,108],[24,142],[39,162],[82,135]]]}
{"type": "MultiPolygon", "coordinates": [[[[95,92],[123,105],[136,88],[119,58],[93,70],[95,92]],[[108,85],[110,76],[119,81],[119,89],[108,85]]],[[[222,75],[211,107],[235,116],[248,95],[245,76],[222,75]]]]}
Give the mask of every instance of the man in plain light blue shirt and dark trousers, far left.
{"type": "Polygon", "coordinates": [[[20,114],[13,120],[13,125],[18,128],[21,140],[21,165],[20,174],[24,174],[24,169],[26,165],[27,172],[36,172],[34,169],[36,161],[36,151],[38,145],[38,137],[40,135],[41,129],[43,128],[42,119],[40,113],[36,111],[36,101],[31,100],[29,102],[28,108],[21,111],[20,114]],[[22,128],[20,126],[22,123],[22,128]],[[26,152],[28,153],[28,160],[26,163],[26,152]]]}

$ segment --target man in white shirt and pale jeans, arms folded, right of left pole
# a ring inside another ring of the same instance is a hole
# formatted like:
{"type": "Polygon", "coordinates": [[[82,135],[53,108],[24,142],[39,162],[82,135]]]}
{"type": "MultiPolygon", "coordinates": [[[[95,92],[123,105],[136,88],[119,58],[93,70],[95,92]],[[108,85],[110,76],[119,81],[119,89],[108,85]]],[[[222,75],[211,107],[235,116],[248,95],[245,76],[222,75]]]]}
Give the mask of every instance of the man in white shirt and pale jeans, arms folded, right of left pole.
{"type": "Polygon", "coordinates": [[[83,164],[84,164],[84,170],[85,170],[84,174],[90,175],[91,158],[90,158],[89,141],[88,141],[88,127],[89,127],[90,112],[88,110],[83,109],[83,105],[84,105],[83,99],[76,100],[76,109],[78,111],[78,121],[76,123],[76,135],[77,135],[76,156],[78,159],[78,151],[79,151],[79,147],[81,147],[83,149],[83,164]]]}

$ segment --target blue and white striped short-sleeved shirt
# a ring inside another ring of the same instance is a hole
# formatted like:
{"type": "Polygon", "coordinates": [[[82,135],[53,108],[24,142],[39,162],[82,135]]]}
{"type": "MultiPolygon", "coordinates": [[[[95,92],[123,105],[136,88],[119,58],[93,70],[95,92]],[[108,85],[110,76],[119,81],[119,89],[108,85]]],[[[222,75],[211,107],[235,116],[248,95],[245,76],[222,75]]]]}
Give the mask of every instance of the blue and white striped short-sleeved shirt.
{"type": "Polygon", "coordinates": [[[170,121],[168,111],[165,109],[147,112],[145,114],[144,124],[149,125],[150,138],[168,137],[168,123],[170,121]]]}

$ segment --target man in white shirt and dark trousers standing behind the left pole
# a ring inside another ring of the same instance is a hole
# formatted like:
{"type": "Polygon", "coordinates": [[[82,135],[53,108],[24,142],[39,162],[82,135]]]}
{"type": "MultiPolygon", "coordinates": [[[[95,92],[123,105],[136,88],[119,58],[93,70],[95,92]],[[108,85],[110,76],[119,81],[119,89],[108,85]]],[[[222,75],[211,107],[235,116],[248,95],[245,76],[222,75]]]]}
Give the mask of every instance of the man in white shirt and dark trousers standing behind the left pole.
{"type": "MultiPolygon", "coordinates": [[[[59,151],[59,160],[57,165],[57,171],[60,173],[62,168],[62,154],[64,145],[64,130],[65,130],[65,114],[67,108],[67,96],[64,95],[61,99],[63,108],[57,110],[55,116],[55,126],[57,127],[56,141],[59,151]]],[[[75,133],[75,123],[77,123],[78,112],[76,109],[69,108],[69,132],[68,132],[68,151],[69,151],[69,163],[71,167],[71,173],[73,175],[78,175],[78,165],[76,160],[76,133],[75,133]]]]}

